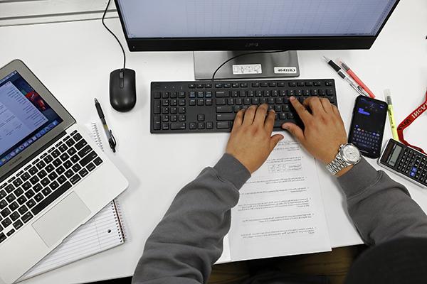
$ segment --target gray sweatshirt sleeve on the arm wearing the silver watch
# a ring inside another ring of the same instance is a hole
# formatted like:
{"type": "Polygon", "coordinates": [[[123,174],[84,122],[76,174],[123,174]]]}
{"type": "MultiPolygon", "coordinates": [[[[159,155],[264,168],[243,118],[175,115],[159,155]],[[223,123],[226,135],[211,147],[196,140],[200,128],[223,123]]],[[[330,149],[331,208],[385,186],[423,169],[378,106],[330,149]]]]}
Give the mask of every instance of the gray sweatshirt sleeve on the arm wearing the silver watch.
{"type": "Polygon", "coordinates": [[[404,185],[362,159],[338,178],[350,217],[367,244],[401,236],[427,237],[427,217],[404,185]]]}

